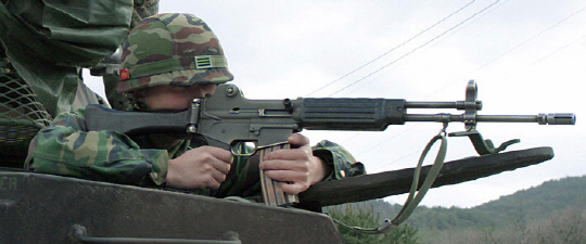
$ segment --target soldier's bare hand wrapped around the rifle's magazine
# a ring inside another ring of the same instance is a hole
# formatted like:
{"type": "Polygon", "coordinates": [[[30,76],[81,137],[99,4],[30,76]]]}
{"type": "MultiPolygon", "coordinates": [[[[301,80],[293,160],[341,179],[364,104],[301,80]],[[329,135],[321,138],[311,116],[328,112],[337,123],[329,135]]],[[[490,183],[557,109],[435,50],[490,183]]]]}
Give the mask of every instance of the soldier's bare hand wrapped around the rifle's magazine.
{"type": "Polygon", "coordinates": [[[327,166],[314,156],[309,139],[294,133],[288,139],[290,150],[278,150],[267,154],[260,164],[267,177],[281,181],[281,187],[289,194],[297,194],[326,177],[327,166]]]}

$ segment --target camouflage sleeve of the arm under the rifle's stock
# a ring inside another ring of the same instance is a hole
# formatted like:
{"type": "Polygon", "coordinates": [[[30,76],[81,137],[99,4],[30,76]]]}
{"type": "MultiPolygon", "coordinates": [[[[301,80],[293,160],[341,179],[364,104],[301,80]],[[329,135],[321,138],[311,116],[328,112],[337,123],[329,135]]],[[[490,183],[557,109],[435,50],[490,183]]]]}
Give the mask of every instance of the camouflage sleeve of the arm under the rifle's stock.
{"type": "Polygon", "coordinates": [[[30,143],[30,169],[115,183],[162,184],[166,150],[144,150],[115,131],[87,131],[85,110],[64,113],[30,143]]]}

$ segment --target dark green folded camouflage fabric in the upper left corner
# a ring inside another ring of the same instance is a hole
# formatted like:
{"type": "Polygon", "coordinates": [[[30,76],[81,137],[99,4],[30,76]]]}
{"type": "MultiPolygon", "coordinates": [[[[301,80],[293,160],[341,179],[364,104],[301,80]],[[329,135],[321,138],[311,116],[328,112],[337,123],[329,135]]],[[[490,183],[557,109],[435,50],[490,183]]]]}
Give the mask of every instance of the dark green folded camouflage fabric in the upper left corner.
{"type": "Polygon", "coordinates": [[[157,11],[158,0],[0,1],[0,55],[55,117],[100,103],[81,67],[112,54],[135,21],[157,11]]]}

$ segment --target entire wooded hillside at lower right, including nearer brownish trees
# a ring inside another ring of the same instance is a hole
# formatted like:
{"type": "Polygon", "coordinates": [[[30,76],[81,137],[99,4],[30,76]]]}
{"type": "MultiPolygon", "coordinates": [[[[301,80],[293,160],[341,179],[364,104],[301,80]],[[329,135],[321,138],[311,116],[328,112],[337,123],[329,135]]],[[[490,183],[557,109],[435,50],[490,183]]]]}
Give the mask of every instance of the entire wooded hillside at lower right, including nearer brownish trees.
{"type": "MultiPolygon", "coordinates": [[[[377,200],[353,208],[374,210],[382,220],[400,205],[377,200]]],[[[406,222],[422,243],[586,243],[586,176],[546,181],[473,208],[420,206],[406,222]]]]}

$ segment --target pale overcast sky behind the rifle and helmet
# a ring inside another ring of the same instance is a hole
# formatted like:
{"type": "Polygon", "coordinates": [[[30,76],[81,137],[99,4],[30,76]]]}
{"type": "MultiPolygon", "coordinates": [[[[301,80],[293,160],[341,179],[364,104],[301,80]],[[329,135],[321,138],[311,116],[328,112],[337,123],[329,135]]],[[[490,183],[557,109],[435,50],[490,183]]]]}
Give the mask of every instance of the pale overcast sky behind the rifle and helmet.
{"type": "MultiPolygon", "coordinates": [[[[586,175],[586,131],[579,120],[585,111],[584,8],[586,1],[548,0],[161,0],[160,12],[192,13],[206,21],[220,39],[233,84],[249,99],[459,101],[474,79],[484,104],[479,114],[577,115],[576,126],[479,125],[497,145],[521,139],[510,150],[552,146],[556,156],[433,189],[423,200],[426,206],[471,207],[547,180],[586,175]]],[[[101,92],[99,81],[87,80],[101,92]]],[[[440,129],[430,123],[383,132],[304,134],[314,142],[337,142],[368,172],[380,172],[415,167],[440,129]]],[[[461,130],[461,124],[448,127],[448,132],[461,130]]],[[[450,138],[448,143],[449,160],[475,154],[468,139],[450,138]]],[[[403,204],[405,195],[386,200],[403,204]]]]}

